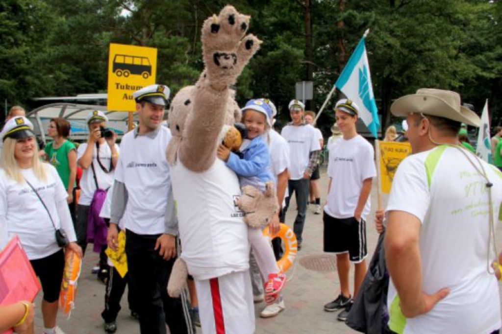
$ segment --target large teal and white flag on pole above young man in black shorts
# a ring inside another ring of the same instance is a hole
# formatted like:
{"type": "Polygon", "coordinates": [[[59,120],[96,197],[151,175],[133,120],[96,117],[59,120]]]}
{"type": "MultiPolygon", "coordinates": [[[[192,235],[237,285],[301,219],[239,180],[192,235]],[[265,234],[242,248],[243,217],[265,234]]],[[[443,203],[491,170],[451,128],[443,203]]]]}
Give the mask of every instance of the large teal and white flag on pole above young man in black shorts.
{"type": "Polygon", "coordinates": [[[359,117],[376,138],[380,121],[369,74],[366,46],[364,45],[367,33],[368,31],[364,33],[364,36],[350,56],[347,65],[345,65],[338,80],[336,80],[335,87],[359,106],[359,109],[361,109],[359,117]]]}

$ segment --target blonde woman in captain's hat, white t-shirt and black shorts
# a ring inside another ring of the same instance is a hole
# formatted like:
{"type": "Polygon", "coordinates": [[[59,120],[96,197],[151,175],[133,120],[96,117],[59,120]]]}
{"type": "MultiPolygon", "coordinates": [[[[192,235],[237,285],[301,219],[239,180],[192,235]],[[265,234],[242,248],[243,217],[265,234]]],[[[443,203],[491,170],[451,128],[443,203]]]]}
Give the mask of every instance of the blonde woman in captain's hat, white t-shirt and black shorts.
{"type": "Polygon", "coordinates": [[[10,119],[0,137],[4,143],[0,169],[0,224],[8,238],[18,235],[43,290],[44,333],[62,333],[56,326],[64,252],[82,250],[66,203],[68,194],[56,169],[38,158],[33,124],[10,119]],[[59,231],[59,238],[56,236],[59,231]],[[65,238],[64,238],[65,237],[65,238]],[[65,240],[66,239],[66,240],[65,240]],[[58,244],[59,243],[59,244],[58,244]]]}

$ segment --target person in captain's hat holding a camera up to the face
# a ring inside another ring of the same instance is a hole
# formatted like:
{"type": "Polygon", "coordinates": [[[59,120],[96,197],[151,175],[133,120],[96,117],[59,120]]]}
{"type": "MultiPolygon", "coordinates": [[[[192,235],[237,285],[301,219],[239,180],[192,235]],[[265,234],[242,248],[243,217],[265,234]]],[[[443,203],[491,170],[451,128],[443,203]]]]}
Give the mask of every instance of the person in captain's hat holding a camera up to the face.
{"type": "MultiPolygon", "coordinates": [[[[118,160],[117,135],[106,128],[108,117],[101,110],[93,110],[87,116],[89,138],[78,146],[77,163],[82,167],[80,198],[77,204],[75,232],[77,243],[85,254],[87,247],[87,222],[96,190],[108,190],[113,184],[113,174],[118,160]]],[[[106,245],[104,245],[106,247],[106,245]]],[[[96,247],[94,248],[96,250],[96,247]]],[[[100,254],[98,277],[103,281],[107,276],[106,255],[100,254]]]]}

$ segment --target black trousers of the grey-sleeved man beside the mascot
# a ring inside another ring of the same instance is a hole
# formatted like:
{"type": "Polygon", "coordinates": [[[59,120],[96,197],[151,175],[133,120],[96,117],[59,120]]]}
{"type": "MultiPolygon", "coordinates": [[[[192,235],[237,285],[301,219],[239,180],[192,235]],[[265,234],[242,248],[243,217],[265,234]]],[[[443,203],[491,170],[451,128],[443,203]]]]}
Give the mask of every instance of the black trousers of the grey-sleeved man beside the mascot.
{"type": "Polygon", "coordinates": [[[167,294],[167,282],[175,259],[164,260],[155,250],[159,235],[140,235],[126,230],[126,255],[131,288],[138,296],[142,334],[187,333],[180,298],[167,294]]]}

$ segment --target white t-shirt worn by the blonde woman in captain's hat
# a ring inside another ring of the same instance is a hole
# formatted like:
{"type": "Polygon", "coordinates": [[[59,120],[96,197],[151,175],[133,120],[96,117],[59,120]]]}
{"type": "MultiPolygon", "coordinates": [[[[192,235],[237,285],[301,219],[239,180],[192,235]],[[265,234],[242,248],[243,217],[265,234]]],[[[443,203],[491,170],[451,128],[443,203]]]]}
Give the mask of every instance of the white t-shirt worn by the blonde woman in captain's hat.
{"type": "MultiPolygon", "coordinates": [[[[47,180],[40,181],[33,169],[22,169],[25,180],[37,190],[44,201],[56,228],[61,228],[56,203],[65,201],[68,197],[66,189],[56,169],[44,163],[47,180]]],[[[30,260],[40,259],[54,254],[61,248],[57,245],[55,228],[49,214],[25,182],[22,184],[7,177],[0,169],[0,224],[7,227],[8,240],[19,236],[21,244],[30,260]]],[[[75,232],[64,231],[69,240],[75,240],[75,232]]]]}

